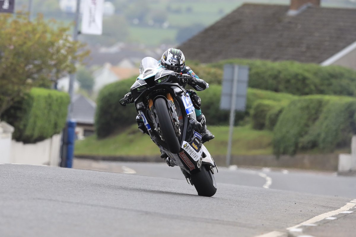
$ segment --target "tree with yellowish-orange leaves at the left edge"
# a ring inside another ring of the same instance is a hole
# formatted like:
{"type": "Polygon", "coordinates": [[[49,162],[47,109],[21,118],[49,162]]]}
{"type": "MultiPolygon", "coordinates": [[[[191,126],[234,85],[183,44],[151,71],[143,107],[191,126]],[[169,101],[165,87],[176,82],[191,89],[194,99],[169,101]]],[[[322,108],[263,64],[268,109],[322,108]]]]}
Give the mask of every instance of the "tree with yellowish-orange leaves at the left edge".
{"type": "Polygon", "coordinates": [[[27,15],[0,14],[0,25],[0,115],[31,87],[49,86],[75,72],[72,60],[89,54],[72,41],[69,26],[41,15],[30,22],[27,15]]]}

